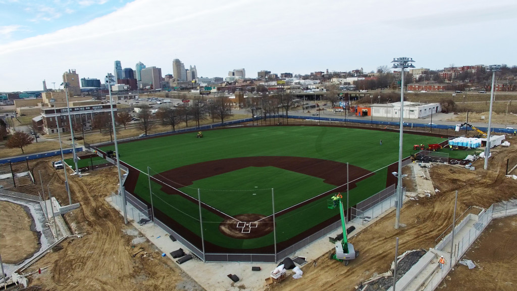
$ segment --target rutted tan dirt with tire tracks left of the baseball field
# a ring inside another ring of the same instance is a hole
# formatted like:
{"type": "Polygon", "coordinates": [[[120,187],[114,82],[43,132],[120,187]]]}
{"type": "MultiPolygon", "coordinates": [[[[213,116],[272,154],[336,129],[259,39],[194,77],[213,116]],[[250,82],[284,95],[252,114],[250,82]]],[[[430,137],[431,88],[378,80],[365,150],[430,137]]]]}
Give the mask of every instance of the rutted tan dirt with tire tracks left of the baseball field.
{"type": "MultiPolygon", "coordinates": [[[[63,171],[56,172],[47,164],[41,166],[49,175],[44,184],[49,183],[52,193],[66,205],[63,171]]],[[[65,240],[60,244],[62,250],[38,261],[38,266],[51,267],[36,275],[31,284],[43,290],[133,290],[135,286],[142,290],[169,290],[176,284],[203,290],[173,261],[161,258],[161,252],[149,242],[138,245],[145,248],[146,257],[131,256],[133,236],[125,235],[123,230],[135,234],[138,231],[132,225],[125,226],[121,215],[104,199],[116,191],[117,182],[114,167],[82,178],[69,176],[72,202],[80,202],[81,207],[67,213],[65,219],[73,231],[85,235],[65,240]]]]}

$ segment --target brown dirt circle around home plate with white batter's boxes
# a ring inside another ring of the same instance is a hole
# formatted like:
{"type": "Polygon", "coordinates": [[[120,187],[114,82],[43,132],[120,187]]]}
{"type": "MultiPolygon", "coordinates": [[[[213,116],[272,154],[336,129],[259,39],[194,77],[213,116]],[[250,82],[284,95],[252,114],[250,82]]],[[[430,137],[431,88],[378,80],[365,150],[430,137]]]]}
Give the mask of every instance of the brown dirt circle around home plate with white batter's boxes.
{"type": "Polygon", "coordinates": [[[225,219],[219,225],[219,231],[236,239],[260,238],[273,231],[273,217],[264,217],[266,216],[254,213],[235,215],[235,219],[225,219]]]}

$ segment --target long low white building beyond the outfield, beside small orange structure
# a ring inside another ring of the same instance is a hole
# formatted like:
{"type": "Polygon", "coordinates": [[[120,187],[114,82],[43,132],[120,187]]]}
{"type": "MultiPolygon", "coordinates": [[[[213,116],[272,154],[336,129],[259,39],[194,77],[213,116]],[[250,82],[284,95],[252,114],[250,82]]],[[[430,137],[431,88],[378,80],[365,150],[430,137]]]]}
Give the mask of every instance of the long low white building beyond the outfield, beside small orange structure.
{"type": "MultiPolygon", "coordinates": [[[[386,118],[387,121],[400,120],[400,102],[372,104],[372,117],[386,118]]],[[[404,119],[419,119],[442,112],[442,106],[439,103],[415,103],[404,101],[404,119]]]]}

